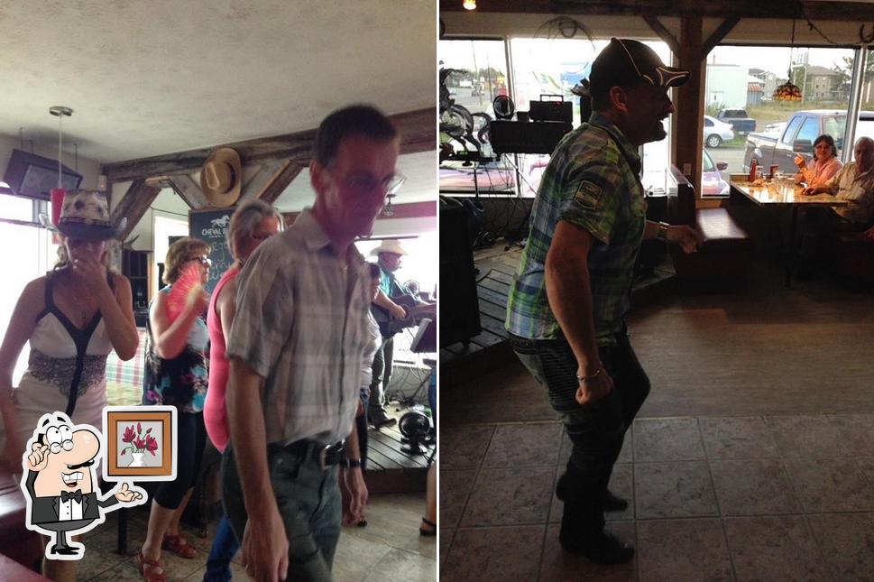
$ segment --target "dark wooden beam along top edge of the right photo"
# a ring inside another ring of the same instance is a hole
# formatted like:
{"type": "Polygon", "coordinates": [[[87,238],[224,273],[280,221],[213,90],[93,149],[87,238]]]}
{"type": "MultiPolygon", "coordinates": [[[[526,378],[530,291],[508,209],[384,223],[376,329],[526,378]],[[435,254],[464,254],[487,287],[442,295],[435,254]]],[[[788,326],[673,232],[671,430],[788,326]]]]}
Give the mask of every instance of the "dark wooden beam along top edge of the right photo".
{"type": "MultiPolygon", "coordinates": [[[[479,0],[476,12],[523,14],[583,14],[608,16],[700,16],[713,18],[802,18],[814,21],[870,22],[874,5],[817,0],[761,2],[761,0],[479,0]]],[[[466,12],[461,0],[440,0],[441,12],[466,12]]]]}

